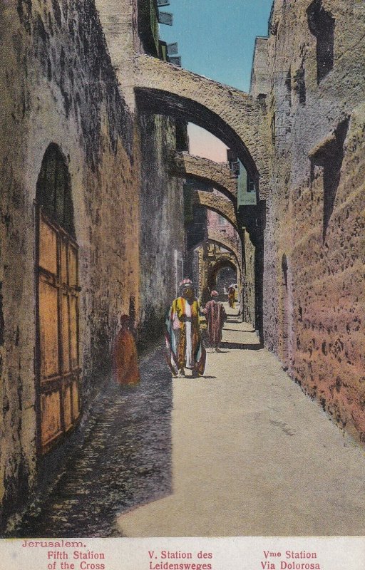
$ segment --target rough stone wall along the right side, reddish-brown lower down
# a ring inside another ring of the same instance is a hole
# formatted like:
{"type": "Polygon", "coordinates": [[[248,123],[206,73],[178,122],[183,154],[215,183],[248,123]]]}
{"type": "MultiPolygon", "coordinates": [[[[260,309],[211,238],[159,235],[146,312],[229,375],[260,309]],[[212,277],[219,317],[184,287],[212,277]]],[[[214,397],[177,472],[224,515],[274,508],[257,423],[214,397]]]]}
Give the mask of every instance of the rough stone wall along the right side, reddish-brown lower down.
{"type": "Polygon", "coordinates": [[[322,1],[335,19],[334,68],[318,83],[309,4],[275,2],[269,38],[274,161],[265,238],[265,341],[292,377],[364,440],[365,6],[322,1]],[[339,184],[324,231],[326,161],[316,165],[315,157],[346,118],[339,184]]]}

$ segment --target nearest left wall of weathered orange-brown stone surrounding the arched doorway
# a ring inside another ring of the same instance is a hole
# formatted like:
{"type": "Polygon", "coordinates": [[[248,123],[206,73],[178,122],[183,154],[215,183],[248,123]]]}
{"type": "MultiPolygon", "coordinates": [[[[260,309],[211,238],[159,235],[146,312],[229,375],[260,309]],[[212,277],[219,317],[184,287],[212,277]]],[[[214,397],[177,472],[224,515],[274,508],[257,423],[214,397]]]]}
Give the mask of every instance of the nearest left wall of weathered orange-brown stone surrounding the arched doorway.
{"type": "Polygon", "coordinates": [[[1,51],[0,496],[11,514],[36,480],[34,199],[48,145],[58,145],[71,175],[84,405],[110,369],[118,314],[130,294],[138,300],[139,209],[133,122],[95,7],[3,3],[1,51]]]}

